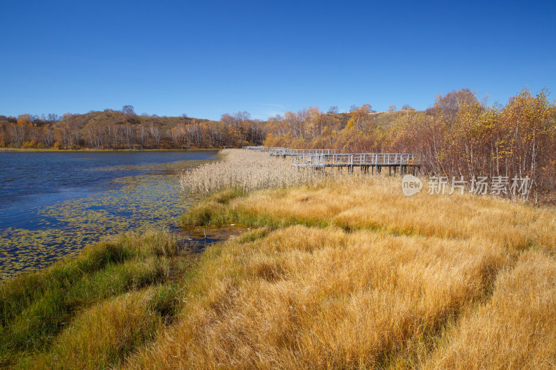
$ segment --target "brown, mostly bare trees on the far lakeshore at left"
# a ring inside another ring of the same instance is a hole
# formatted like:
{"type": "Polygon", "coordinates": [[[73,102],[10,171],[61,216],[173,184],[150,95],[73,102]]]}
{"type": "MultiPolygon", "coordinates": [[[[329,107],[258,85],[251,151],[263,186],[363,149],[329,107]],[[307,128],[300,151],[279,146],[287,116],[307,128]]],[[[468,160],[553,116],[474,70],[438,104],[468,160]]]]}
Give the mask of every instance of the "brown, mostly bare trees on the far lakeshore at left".
{"type": "Polygon", "coordinates": [[[136,115],[132,106],[84,115],[0,115],[0,147],[22,149],[179,149],[262,144],[265,122],[248,112],[220,121],[136,115]]]}

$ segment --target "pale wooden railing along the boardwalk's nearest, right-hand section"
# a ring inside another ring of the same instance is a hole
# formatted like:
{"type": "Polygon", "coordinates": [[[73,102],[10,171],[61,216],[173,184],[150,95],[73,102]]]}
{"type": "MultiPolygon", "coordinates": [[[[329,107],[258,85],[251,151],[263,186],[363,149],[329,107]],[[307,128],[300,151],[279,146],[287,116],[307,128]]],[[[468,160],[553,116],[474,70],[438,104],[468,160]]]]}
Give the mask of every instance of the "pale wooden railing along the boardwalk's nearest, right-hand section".
{"type": "Polygon", "coordinates": [[[409,153],[304,154],[294,155],[291,160],[297,167],[418,165],[418,155],[409,153]]]}

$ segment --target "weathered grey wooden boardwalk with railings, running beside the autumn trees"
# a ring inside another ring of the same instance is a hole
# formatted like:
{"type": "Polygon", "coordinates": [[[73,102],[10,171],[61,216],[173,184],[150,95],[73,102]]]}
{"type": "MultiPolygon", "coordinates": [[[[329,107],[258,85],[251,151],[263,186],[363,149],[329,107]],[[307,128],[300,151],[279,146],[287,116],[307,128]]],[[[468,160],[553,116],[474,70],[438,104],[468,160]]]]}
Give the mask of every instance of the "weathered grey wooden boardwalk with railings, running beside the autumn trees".
{"type": "Polygon", "coordinates": [[[419,169],[419,157],[411,153],[339,153],[336,149],[289,149],[270,148],[266,146],[244,146],[243,149],[265,151],[270,155],[291,156],[291,164],[297,168],[312,168],[324,170],[344,167],[353,173],[354,167],[359,167],[363,174],[380,174],[383,167],[389,167],[389,173],[407,173],[419,169]]]}

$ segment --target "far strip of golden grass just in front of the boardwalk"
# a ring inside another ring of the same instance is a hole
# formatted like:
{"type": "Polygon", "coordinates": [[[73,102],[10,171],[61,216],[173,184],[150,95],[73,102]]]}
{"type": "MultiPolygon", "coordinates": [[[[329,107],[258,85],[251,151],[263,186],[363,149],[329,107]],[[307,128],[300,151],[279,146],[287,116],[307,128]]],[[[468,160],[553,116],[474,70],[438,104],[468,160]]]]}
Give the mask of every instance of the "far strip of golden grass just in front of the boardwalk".
{"type": "Polygon", "coordinates": [[[318,189],[263,190],[231,199],[227,210],[250,217],[345,229],[475,239],[524,249],[556,246],[556,211],[493,196],[404,196],[399,177],[344,176],[318,189]]]}

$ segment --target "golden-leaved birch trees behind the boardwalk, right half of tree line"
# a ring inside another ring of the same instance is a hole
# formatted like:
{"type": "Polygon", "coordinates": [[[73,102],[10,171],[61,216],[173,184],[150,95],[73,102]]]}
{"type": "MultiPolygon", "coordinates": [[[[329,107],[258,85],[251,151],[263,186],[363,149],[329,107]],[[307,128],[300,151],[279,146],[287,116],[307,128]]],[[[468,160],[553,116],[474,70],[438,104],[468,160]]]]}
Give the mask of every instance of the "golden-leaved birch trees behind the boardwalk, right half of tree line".
{"type": "Polygon", "coordinates": [[[527,177],[534,194],[546,194],[556,190],[556,104],[548,96],[523,89],[505,106],[489,105],[463,89],[436,96],[425,111],[377,113],[366,104],[343,121],[309,108],[269,121],[265,145],[416,153],[431,176],[527,177]]]}

